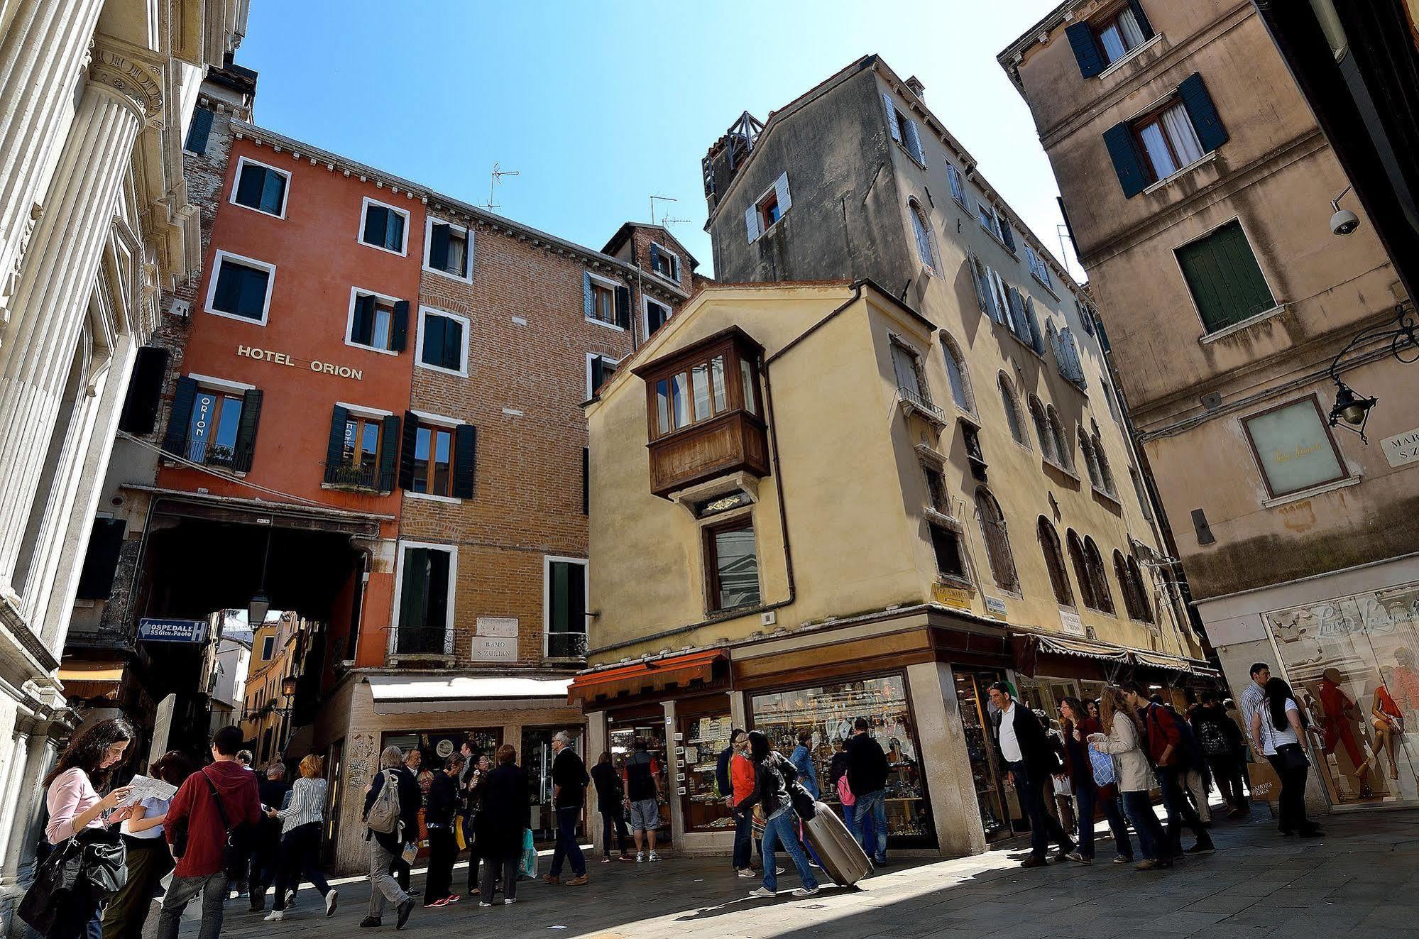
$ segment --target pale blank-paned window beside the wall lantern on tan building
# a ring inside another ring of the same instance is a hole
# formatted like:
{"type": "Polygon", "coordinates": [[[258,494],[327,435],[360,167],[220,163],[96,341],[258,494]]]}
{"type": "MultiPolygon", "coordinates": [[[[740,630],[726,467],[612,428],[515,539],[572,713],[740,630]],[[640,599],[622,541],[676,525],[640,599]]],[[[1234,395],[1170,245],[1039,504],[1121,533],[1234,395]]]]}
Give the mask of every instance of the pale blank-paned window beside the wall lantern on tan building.
{"type": "Polygon", "coordinates": [[[1349,477],[1314,394],[1242,418],[1271,498],[1349,477]]]}

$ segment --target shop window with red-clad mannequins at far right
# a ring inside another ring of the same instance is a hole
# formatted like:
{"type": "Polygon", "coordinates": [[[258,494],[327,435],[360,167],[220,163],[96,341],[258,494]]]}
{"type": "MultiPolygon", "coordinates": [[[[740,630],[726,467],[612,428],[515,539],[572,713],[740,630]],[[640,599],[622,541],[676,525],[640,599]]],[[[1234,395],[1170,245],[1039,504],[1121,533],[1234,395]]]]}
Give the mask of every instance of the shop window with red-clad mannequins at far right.
{"type": "Polygon", "coordinates": [[[1419,801],[1419,583],[1263,616],[1337,804],[1419,801]]]}

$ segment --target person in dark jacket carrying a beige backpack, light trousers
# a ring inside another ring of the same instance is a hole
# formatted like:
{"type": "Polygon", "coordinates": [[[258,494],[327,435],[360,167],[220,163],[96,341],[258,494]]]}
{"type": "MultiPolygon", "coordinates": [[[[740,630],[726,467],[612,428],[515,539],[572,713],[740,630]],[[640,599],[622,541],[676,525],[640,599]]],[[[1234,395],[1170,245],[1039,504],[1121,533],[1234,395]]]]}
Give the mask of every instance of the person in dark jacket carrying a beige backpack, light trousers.
{"type": "Polygon", "coordinates": [[[383,925],[385,905],[394,904],[394,929],[403,929],[414,909],[414,898],[393,875],[394,860],[417,831],[419,783],[402,773],[404,755],[386,746],[379,755],[379,773],[365,789],[365,838],[369,841],[369,913],[360,928],[383,925]]]}

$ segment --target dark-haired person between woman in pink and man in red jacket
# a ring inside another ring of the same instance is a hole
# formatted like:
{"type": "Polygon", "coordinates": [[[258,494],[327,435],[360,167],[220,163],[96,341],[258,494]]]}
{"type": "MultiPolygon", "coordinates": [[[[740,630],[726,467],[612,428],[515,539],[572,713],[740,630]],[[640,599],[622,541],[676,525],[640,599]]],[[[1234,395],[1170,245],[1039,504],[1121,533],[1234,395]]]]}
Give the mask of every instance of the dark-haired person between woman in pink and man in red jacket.
{"type": "MultiPolygon", "coordinates": [[[[169,786],[182,786],[192,776],[192,760],[180,750],[167,750],[148,767],[148,774],[169,786]]],[[[149,796],[133,806],[123,821],[128,879],[104,906],[104,939],[140,939],[153,905],[153,888],[173,869],[173,855],[163,837],[170,799],[149,796]]]]}

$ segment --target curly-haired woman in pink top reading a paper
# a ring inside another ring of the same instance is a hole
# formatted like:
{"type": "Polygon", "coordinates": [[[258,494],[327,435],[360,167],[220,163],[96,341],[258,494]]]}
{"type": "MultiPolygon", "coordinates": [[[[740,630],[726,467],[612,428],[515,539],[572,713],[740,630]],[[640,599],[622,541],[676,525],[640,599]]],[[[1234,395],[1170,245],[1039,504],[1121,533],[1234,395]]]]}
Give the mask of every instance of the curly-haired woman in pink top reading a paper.
{"type": "MultiPolygon", "coordinates": [[[[53,845],[61,845],[70,838],[87,843],[91,840],[118,840],[108,826],[123,821],[132,809],[118,809],[128,799],[128,786],[108,789],[109,774],[123,762],[128,745],[138,736],[133,725],[123,718],[99,721],[84,730],[64,749],[58,763],[44,777],[45,806],[50,810],[50,824],[44,835],[53,845]],[[118,809],[118,811],[114,811],[118,809]]],[[[85,851],[85,857],[89,852],[85,851]]],[[[122,857],[122,851],[116,852],[122,857]]],[[[89,878],[79,878],[79,885],[70,891],[65,902],[58,906],[54,923],[45,932],[47,939],[79,939],[96,935],[101,929],[99,913],[104,895],[94,892],[89,878]]]]}

